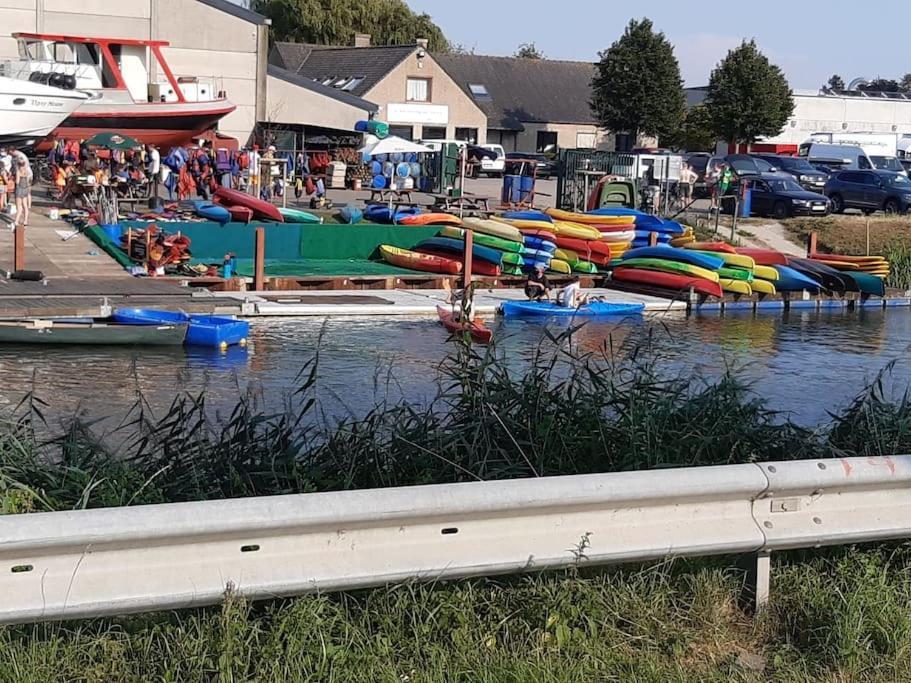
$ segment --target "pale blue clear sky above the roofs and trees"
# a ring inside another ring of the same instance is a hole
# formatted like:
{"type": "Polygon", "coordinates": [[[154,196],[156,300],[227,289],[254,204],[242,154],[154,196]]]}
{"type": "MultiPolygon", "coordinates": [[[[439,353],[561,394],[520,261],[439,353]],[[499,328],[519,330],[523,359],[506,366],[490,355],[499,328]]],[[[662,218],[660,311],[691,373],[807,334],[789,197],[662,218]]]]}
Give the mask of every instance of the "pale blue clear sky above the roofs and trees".
{"type": "Polygon", "coordinates": [[[687,2],[653,0],[406,0],[426,12],[446,37],[478,54],[510,55],[534,42],[550,59],[595,61],[630,19],[647,16],[675,47],[686,85],[708,83],[727,51],[746,38],[780,66],[799,90],[834,73],[898,78],[911,72],[908,0],[879,0],[875,11],[801,0],[687,2]],[[859,23],[860,21],[860,23],[859,23]]]}

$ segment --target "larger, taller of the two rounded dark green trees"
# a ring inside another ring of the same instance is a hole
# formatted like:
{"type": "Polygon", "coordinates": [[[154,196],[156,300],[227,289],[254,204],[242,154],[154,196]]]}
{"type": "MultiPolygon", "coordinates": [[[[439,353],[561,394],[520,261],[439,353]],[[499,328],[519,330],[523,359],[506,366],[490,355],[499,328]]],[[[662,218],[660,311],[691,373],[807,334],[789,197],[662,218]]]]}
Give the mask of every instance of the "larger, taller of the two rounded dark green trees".
{"type": "Polygon", "coordinates": [[[590,105],[602,127],[636,139],[680,130],[686,112],[680,66],[674,48],[649,19],[630,21],[600,57],[590,105]]]}

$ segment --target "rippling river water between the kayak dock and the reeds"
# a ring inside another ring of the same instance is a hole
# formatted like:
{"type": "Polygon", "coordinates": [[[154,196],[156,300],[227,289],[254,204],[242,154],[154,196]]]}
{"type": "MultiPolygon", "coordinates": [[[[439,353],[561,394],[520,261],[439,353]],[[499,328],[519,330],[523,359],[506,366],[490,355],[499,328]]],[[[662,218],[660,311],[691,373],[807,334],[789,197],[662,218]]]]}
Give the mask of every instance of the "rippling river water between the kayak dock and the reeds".
{"type": "MultiPolygon", "coordinates": [[[[567,322],[551,321],[552,330],[567,322]]],[[[500,321],[500,352],[521,364],[543,339],[539,320],[500,321]]],[[[649,315],[590,322],[574,334],[580,351],[649,336],[662,367],[712,377],[725,367],[750,379],[773,409],[804,424],[844,407],[889,362],[894,391],[911,379],[911,311],[649,315]]],[[[427,319],[268,319],[252,323],[247,349],[0,348],[0,402],[34,393],[52,418],[121,418],[141,392],[163,415],[180,392],[205,391],[208,404],[230,410],[238,392],[253,390],[277,408],[298,386],[297,375],[319,350],[317,396],[331,418],[360,415],[384,399],[422,402],[436,390],[446,333],[427,319]]]]}

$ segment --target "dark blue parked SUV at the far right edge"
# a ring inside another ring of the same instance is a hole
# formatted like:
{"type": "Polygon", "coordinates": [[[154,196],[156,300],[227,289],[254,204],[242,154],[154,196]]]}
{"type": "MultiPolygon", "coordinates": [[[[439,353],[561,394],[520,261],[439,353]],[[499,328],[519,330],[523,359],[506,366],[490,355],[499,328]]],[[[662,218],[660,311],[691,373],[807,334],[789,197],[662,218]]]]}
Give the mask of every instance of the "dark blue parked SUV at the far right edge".
{"type": "Polygon", "coordinates": [[[911,208],[911,180],[892,171],[839,171],[826,183],[825,193],[836,213],[906,213],[911,208]]]}

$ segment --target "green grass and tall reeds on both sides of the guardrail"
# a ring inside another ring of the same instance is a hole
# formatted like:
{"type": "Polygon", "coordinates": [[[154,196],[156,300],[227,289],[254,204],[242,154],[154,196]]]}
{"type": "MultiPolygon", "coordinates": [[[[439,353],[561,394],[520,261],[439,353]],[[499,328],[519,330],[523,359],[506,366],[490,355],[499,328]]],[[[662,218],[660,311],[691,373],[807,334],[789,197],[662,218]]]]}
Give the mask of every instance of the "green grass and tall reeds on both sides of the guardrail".
{"type": "MultiPolygon", "coordinates": [[[[524,369],[457,345],[426,406],[313,419],[318,363],[284,410],[203,395],[112,442],[73,420],[45,438],[29,397],[0,428],[0,508],[29,513],[430,482],[909,452],[911,398],[884,375],[814,429],[736,374],[668,377],[648,340],[588,353],[572,331],[524,369]],[[119,444],[113,447],[110,443],[119,444]]],[[[249,605],[0,628],[5,681],[866,681],[911,670],[911,548],[778,555],[774,599],[738,605],[728,558],[402,585],[249,605]],[[758,658],[764,670],[745,664],[758,658]]]]}

